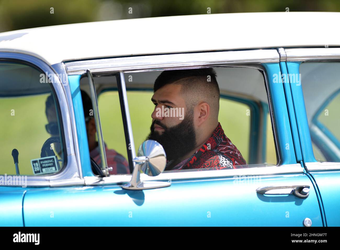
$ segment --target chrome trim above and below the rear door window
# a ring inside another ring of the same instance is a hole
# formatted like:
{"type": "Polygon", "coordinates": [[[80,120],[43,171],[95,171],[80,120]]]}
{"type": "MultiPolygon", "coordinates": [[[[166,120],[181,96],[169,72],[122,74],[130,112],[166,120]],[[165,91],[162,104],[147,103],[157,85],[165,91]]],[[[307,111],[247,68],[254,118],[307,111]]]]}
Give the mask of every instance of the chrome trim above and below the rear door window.
{"type": "MultiPolygon", "coordinates": [[[[340,62],[340,48],[290,48],[284,52],[286,62],[340,62]]],[[[340,170],[340,162],[305,162],[305,165],[308,171],[340,170]]]]}

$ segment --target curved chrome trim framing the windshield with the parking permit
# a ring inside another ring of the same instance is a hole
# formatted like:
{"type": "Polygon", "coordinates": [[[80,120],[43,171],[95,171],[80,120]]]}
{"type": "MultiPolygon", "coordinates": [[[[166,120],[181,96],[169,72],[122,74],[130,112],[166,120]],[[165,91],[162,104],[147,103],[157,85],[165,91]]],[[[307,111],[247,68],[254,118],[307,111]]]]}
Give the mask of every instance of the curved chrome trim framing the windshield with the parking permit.
{"type": "MultiPolygon", "coordinates": [[[[42,70],[43,72],[48,72],[48,74],[53,73],[53,82],[52,87],[55,90],[58,103],[60,106],[61,112],[61,119],[65,140],[65,151],[67,157],[66,166],[56,174],[50,176],[27,176],[27,187],[37,186],[37,187],[45,187],[45,186],[54,186],[54,185],[77,185],[82,184],[84,185],[84,179],[81,178],[81,168],[79,167],[79,162],[76,158],[76,152],[74,150],[75,144],[77,142],[77,138],[74,138],[75,131],[72,128],[72,123],[74,124],[74,120],[71,121],[71,115],[73,112],[70,112],[69,107],[72,106],[72,102],[69,102],[70,90],[68,86],[68,82],[62,84],[60,79],[58,78],[58,74],[64,73],[66,75],[65,68],[63,69],[63,65],[55,65],[55,67],[49,66],[43,60],[27,55],[22,53],[15,53],[15,52],[0,52],[0,58],[10,61],[22,61],[27,62],[28,64],[35,65],[37,68],[42,70]],[[56,69],[56,70],[55,70],[56,69]],[[75,139],[75,140],[74,140],[75,139]]],[[[67,77],[66,77],[67,78],[67,77]]],[[[77,148],[77,147],[76,147],[77,148]]],[[[78,152],[79,153],[79,152],[78,152]]],[[[8,175],[14,176],[14,175],[8,175]]],[[[4,185],[6,186],[6,185],[4,185]]],[[[8,185],[7,185],[8,186],[8,185]]],[[[15,185],[10,185],[15,186],[15,185]]],[[[21,185],[20,185],[21,186],[21,185]]]]}

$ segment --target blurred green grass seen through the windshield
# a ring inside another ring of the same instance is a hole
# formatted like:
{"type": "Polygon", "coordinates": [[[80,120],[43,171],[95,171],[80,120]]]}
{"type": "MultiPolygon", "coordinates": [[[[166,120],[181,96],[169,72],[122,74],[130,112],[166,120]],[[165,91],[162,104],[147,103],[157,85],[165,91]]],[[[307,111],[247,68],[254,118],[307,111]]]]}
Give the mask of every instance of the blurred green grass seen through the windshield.
{"type": "Polygon", "coordinates": [[[50,137],[45,129],[45,101],[48,96],[0,99],[0,174],[16,174],[12,157],[14,148],[19,151],[20,174],[33,174],[31,160],[40,158],[41,147],[50,137]]]}

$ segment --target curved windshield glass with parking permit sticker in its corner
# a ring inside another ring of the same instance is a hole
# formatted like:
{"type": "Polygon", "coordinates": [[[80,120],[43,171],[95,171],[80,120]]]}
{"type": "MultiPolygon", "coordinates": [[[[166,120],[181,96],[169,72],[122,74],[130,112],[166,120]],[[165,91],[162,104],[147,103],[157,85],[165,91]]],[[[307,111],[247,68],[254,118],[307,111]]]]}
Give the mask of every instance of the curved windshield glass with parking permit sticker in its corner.
{"type": "Polygon", "coordinates": [[[66,163],[60,109],[48,76],[0,63],[0,174],[55,174],[66,163]]]}

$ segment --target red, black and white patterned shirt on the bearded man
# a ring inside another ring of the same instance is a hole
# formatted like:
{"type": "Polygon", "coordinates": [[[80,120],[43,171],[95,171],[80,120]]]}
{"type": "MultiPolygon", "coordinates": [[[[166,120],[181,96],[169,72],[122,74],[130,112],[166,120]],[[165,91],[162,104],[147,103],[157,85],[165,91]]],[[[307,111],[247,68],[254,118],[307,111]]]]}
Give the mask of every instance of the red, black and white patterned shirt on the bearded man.
{"type": "MultiPolygon", "coordinates": [[[[171,163],[172,161],[169,161],[167,166],[171,163]]],[[[248,165],[246,165],[240,151],[224,134],[221,124],[218,123],[217,128],[206,143],[191,157],[177,164],[171,170],[193,168],[233,169],[248,168],[248,165]]]]}

